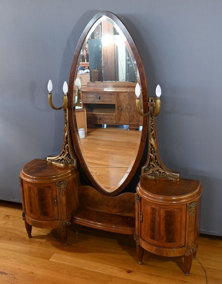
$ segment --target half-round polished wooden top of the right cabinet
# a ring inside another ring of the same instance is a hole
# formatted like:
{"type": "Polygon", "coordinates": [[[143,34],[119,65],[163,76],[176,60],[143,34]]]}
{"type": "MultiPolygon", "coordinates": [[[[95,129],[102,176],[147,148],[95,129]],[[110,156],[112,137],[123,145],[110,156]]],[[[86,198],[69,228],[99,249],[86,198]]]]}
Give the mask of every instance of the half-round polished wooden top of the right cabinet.
{"type": "Polygon", "coordinates": [[[137,185],[137,193],[152,202],[174,204],[187,203],[200,197],[203,187],[200,181],[181,178],[178,181],[152,179],[143,176],[137,185]]]}

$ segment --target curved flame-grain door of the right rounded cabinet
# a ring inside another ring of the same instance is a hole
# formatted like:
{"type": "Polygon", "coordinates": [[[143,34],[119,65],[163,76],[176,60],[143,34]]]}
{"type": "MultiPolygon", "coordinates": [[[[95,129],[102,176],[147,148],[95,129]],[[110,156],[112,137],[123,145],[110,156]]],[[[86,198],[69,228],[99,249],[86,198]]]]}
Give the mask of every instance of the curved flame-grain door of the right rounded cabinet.
{"type": "Polygon", "coordinates": [[[141,202],[141,237],[150,244],[178,248],[185,245],[186,204],[141,202]]]}

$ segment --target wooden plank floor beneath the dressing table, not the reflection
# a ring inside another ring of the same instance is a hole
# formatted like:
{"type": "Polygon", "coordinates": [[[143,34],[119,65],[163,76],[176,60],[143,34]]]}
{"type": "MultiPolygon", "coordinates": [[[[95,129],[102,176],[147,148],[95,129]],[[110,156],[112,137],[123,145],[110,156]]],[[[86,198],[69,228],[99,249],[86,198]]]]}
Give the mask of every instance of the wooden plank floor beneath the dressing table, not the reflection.
{"type": "MultiPolygon", "coordinates": [[[[0,283],[206,283],[197,260],[188,277],[182,272],[183,257],[166,258],[145,251],[139,265],[130,235],[86,227],[75,235],[71,225],[66,247],[60,243],[58,229],[33,228],[29,239],[21,215],[20,205],[0,202],[0,283]]],[[[221,284],[222,241],[201,237],[197,258],[206,269],[208,284],[221,284]]]]}

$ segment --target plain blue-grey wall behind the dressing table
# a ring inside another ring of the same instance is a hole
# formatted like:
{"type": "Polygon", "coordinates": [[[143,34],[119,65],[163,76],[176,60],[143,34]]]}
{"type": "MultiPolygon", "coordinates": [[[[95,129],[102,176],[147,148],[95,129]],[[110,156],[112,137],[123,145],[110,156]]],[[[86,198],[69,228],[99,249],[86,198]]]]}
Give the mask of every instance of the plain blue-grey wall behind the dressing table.
{"type": "Polygon", "coordinates": [[[165,165],[204,186],[201,231],[222,235],[222,1],[0,1],[0,199],[20,202],[18,175],[34,158],[58,154],[62,103],[73,52],[88,21],[114,12],[131,32],[149,95],[162,88],[157,118],[165,165]]]}

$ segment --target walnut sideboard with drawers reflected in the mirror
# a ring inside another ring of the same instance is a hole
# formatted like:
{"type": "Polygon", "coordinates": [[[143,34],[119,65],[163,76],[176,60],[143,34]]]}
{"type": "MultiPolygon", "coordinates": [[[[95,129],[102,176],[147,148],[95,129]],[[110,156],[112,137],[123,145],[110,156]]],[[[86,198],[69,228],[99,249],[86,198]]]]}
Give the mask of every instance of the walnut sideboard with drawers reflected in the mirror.
{"type": "Polygon", "coordinates": [[[95,124],[129,125],[136,130],[143,118],[136,110],[135,83],[117,87],[118,82],[88,82],[81,87],[82,107],[86,108],[87,126],[95,124]]]}

